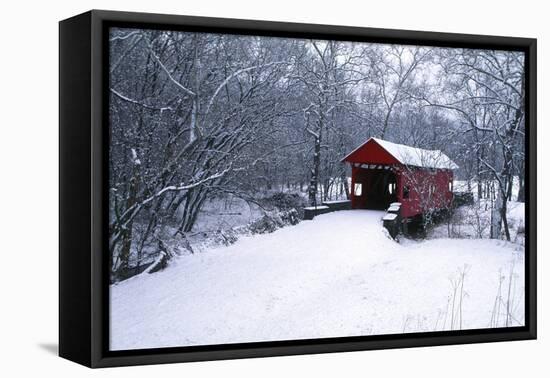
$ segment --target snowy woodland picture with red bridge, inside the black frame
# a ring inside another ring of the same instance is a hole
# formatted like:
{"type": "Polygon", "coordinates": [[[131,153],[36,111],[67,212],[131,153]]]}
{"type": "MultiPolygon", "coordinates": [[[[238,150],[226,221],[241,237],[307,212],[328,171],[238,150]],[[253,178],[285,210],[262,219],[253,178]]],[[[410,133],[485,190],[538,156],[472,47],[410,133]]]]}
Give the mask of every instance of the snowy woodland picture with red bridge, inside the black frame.
{"type": "Polygon", "coordinates": [[[108,41],[111,351],[526,325],[524,52],[108,41]]]}

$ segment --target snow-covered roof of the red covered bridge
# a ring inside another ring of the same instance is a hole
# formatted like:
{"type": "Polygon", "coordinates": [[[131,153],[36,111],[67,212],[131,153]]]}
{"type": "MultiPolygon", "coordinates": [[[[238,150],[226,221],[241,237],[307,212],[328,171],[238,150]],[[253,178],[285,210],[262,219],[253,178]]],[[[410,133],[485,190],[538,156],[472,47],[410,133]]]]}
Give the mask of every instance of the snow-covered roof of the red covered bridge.
{"type": "Polygon", "coordinates": [[[353,153],[361,149],[370,141],[374,141],[379,144],[384,150],[386,150],[390,155],[392,155],[403,165],[437,169],[458,168],[458,165],[456,165],[447,155],[445,155],[440,150],[425,150],[422,148],[411,147],[404,144],[388,142],[386,140],[378,138],[369,138],[365,143],[350,152],[342,160],[346,160],[353,153]]]}

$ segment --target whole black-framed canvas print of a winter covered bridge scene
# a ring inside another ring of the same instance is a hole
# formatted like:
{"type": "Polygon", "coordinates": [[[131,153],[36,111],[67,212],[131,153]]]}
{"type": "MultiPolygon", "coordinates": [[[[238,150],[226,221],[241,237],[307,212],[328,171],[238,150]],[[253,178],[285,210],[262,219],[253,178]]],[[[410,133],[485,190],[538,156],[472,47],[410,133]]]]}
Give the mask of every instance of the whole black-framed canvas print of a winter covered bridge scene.
{"type": "Polygon", "coordinates": [[[60,22],[60,355],[536,337],[536,41],[60,22]]]}

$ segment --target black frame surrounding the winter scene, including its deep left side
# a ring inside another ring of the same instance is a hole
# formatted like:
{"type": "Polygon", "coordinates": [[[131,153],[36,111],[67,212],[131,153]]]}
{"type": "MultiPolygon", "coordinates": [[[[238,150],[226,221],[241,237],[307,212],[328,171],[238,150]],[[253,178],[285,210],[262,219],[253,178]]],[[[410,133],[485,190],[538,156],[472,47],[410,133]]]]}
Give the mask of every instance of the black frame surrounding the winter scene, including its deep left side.
{"type": "Polygon", "coordinates": [[[59,354],[89,367],[535,339],[536,39],[92,10],[59,24],[59,354]],[[526,56],[524,327],[108,350],[108,28],[146,27],[517,50],[526,56]]]}

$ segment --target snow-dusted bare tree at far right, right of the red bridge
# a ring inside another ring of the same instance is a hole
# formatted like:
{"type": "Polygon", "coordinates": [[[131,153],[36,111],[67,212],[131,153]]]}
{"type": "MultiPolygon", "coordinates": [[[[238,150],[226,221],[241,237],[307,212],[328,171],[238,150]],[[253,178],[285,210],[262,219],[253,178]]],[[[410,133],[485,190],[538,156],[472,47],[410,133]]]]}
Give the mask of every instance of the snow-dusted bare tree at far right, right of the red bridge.
{"type": "Polygon", "coordinates": [[[465,132],[474,134],[477,175],[487,174],[497,186],[491,236],[499,237],[502,225],[507,240],[507,201],[513,175],[523,171],[523,167],[517,168],[524,159],[523,59],[522,53],[441,50],[446,85],[438,100],[424,97],[429,105],[454,112],[464,121],[465,132]],[[487,147],[489,151],[485,151],[487,147]]]}

